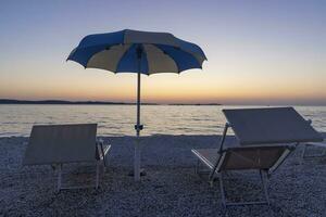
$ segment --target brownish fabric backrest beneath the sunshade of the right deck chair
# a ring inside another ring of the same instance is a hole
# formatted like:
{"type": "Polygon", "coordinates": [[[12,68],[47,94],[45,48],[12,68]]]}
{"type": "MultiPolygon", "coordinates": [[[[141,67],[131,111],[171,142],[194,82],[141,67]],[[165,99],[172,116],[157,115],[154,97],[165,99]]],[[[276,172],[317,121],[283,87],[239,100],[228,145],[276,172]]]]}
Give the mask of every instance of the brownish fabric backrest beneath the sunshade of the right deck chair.
{"type": "Polygon", "coordinates": [[[291,145],[238,146],[224,150],[217,171],[277,167],[293,150],[291,145]]]}

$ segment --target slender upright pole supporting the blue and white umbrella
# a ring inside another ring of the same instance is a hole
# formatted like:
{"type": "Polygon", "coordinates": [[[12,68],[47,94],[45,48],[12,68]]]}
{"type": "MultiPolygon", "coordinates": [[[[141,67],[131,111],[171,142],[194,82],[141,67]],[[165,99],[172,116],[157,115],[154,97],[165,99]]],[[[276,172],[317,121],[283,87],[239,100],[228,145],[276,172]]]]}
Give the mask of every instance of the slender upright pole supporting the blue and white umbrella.
{"type": "Polygon", "coordinates": [[[134,176],[135,181],[140,180],[140,130],[142,126],[140,125],[140,61],[141,61],[141,52],[140,48],[137,49],[138,56],[138,73],[137,73],[137,124],[136,128],[136,144],[135,144],[135,162],[134,162],[134,176]]]}

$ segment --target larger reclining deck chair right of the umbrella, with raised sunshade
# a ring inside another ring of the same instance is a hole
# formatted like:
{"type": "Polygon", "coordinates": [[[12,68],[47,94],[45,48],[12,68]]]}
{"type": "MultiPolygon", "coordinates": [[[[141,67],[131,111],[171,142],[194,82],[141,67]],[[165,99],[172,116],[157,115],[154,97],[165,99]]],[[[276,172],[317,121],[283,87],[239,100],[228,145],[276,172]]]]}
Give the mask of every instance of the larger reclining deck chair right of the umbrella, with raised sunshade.
{"type": "Polygon", "coordinates": [[[227,123],[220,149],[191,150],[199,163],[210,170],[209,181],[217,176],[224,207],[233,205],[269,205],[266,178],[286,159],[300,142],[321,141],[309,122],[292,107],[223,110],[227,123]],[[228,128],[231,127],[239,142],[224,146],[228,128]],[[228,170],[256,169],[263,184],[265,201],[227,202],[223,174],[228,170]]]}

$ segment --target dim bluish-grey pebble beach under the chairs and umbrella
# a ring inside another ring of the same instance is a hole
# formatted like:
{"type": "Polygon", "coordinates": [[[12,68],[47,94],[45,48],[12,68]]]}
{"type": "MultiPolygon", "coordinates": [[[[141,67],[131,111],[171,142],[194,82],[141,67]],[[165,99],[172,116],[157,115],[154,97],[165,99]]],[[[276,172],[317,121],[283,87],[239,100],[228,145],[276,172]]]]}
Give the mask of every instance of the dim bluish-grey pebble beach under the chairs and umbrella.
{"type": "MultiPolygon", "coordinates": [[[[324,135],[325,136],[325,135],[324,135]]],[[[23,167],[26,137],[0,138],[0,216],[325,216],[326,156],[302,161],[299,146],[269,179],[271,206],[223,208],[218,181],[195,174],[191,149],[217,148],[220,136],[141,138],[146,176],[135,182],[134,137],[103,137],[112,144],[100,188],[55,191],[50,166],[23,167]]],[[[228,137],[227,144],[235,138],[228,137]]],[[[311,148],[319,153],[321,148],[311,148]]],[[[95,165],[63,167],[63,181],[91,182],[95,165]]],[[[231,171],[224,179],[228,200],[263,199],[258,171],[231,171]]]]}

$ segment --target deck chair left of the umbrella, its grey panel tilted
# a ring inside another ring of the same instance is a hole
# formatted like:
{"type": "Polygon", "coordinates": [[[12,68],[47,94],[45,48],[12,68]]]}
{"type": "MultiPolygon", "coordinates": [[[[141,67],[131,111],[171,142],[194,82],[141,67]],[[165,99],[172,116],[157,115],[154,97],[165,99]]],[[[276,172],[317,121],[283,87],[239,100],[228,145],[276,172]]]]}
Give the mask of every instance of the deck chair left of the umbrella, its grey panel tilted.
{"type": "Polygon", "coordinates": [[[97,124],[33,126],[23,165],[51,165],[58,169],[58,191],[99,187],[99,165],[105,167],[111,145],[97,141],[97,124]],[[63,187],[62,166],[96,163],[95,186],[63,187]]]}

